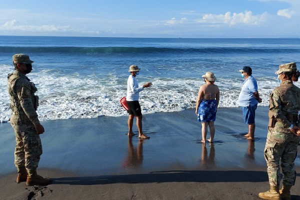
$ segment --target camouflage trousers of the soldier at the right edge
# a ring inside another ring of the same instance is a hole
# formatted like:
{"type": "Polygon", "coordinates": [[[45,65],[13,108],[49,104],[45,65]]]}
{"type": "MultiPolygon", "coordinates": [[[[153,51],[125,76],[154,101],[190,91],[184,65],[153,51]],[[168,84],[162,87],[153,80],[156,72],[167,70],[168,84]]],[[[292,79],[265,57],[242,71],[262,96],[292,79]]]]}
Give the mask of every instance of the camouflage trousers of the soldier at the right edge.
{"type": "Polygon", "coordinates": [[[285,185],[294,185],[296,178],[294,160],[297,155],[299,140],[300,136],[296,136],[291,132],[276,132],[273,131],[273,128],[269,127],[264,148],[264,158],[267,164],[270,185],[276,186],[280,183],[280,160],[283,174],[282,183],[285,185]]]}

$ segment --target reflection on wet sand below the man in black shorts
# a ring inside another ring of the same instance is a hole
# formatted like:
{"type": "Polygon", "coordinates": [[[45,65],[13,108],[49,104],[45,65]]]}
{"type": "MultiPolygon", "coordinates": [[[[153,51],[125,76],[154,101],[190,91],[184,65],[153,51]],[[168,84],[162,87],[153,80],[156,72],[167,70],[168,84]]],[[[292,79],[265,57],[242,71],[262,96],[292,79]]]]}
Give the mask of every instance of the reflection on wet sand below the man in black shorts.
{"type": "Polygon", "coordinates": [[[143,154],[142,154],[142,138],[138,138],[138,145],[134,149],[132,144],[132,136],[128,136],[128,151],[127,157],[123,161],[124,168],[138,168],[142,164],[143,154]]]}

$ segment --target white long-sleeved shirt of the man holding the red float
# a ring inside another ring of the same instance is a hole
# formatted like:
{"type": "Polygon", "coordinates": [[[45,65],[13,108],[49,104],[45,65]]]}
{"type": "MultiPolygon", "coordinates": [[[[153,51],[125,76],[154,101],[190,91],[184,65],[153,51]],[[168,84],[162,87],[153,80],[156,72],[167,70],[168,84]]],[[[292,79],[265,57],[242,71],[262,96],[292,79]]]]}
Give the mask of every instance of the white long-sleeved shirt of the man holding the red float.
{"type": "Polygon", "coordinates": [[[143,86],[138,86],[138,82],[133,75],[129,75],[127,79],[127,101],[138,100],[139,92],[142,91],[144,88],[143,86]]]}

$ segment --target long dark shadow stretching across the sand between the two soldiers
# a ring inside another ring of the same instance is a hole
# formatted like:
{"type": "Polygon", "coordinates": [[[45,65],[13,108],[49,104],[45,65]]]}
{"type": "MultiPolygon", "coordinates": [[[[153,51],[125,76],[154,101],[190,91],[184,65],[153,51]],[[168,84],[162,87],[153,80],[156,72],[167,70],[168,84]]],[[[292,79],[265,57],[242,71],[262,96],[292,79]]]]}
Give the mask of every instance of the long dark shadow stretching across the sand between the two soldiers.
{"type": "Polygon", "coordinates": [[[61,177],[51,179],[52,184],[94,185],[152,182],[264,182],[267,178],[267,173],[264,171],[170,170],[140,174],[61,177]]]}

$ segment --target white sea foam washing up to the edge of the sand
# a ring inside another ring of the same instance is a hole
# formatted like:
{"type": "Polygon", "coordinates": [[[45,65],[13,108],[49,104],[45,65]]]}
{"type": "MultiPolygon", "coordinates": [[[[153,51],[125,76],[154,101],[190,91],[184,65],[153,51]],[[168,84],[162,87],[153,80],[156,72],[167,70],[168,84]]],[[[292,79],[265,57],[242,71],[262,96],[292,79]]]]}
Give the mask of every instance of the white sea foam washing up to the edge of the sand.
{"type": "MultiPolygon", "coordinates": [[[[11,66],[2,65],[3,73],[11,72],[11,66]]],[[[90,74],[82,78],[78,73],[59,75],[48,71],[30,73],[28,77],[36,84],[40,102],[38,115],[41,120],[89,118],[127,115],[119,99],[126,95],[127,76],[117,77],[114,74],[99,78],[90,74]]],[[[138,76],[140,84],[146,79],[138,76]]],[[[139,102],[142,113],[172,112],[194,108],[198,88],[203,84],[201,78],[155,78],[153,86],[140,92],[139,102]]],[[[10,115],[9,97],[7,94],[6,75],[0,76],[0,122],[7,122],[10,115]]],[[[268,105],[270,91],[279,83],[276,77],[257,78],[259,93],[263,101],[259,105],[268,105]]],[[[220,88],[219,107],[238,106],[237,98],[242,86],[241,78],[217,79],[220,88]]],[[[295,83],[299,86],[299,83],[295,83]]]]}

